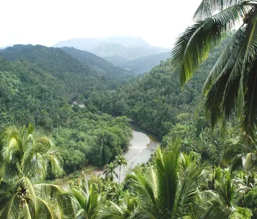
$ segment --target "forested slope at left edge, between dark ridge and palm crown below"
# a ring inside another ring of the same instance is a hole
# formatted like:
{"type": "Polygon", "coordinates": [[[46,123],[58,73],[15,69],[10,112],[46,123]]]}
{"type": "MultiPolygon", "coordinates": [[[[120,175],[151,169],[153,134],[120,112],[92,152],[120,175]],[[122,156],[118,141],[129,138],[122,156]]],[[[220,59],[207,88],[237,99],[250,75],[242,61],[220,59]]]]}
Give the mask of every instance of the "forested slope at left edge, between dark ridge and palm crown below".
{"type": "Polygon", "coordinates": [[[62,104],[78,95],[89,98],[94,90],[107,89],[106,83],[97,77],[49,72],[27,60],[9,62],[0,58],[0,78],[0,121],[31,121],[47,129],[57,122],[57,109],[62,104]]]}

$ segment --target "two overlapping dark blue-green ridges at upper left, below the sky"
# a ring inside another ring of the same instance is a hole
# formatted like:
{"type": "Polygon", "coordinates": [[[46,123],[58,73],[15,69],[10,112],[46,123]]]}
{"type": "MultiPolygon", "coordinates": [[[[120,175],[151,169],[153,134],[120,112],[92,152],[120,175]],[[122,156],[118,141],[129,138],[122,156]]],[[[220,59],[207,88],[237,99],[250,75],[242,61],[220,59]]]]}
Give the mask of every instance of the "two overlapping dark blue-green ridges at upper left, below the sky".
{"type": "Polygon", "coordinates": [[[48,72],[72,72],[83,76],[105,77],[106,80],[125,82],[133,76],[93,53],[75,48],[53,48],[42,45],[14,45],[0,50],[0,57],[8,61],[26,60],[48,72]]]}

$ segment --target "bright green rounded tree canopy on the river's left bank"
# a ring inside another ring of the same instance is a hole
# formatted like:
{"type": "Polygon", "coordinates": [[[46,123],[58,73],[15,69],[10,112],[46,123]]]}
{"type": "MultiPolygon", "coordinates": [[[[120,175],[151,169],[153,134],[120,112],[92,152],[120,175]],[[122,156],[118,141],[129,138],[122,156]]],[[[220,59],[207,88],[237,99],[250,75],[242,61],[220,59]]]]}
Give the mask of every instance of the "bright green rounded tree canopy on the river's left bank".
{"type": "Polygon", "coordinates": [[[70,105],[62,110],[65,120],[59,123],[61,127],[54,130],[53,136],[64,158],[66,173],[88,163],[103,166],[128,149],[132,131],[126,117],[83,112],[83,108],[76,113],[70,105]]]}

